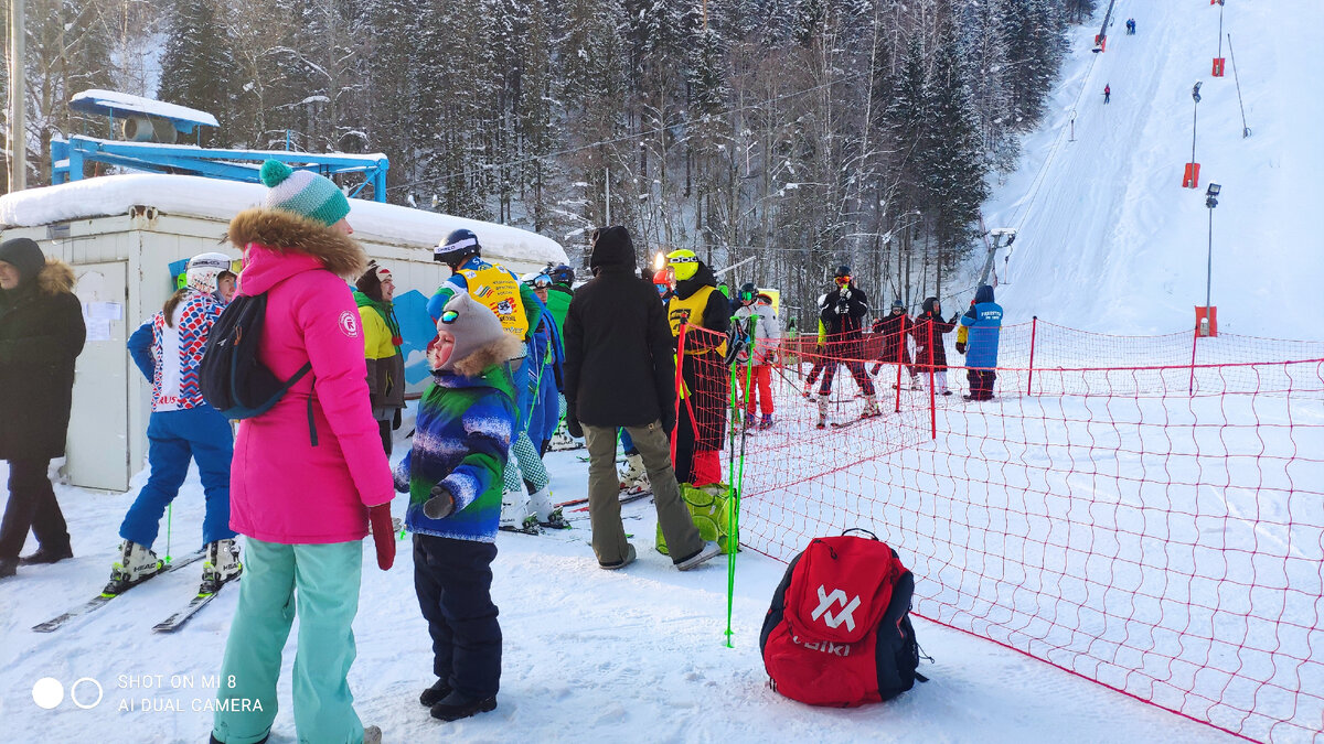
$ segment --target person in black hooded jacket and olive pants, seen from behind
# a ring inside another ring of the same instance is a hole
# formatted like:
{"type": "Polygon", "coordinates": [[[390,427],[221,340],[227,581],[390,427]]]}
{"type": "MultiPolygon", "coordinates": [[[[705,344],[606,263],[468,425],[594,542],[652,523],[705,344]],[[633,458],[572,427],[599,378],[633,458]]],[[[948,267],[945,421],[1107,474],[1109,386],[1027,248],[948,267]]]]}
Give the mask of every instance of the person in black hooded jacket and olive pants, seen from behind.
{"type": "Polygon", "coordinates": [[[671,469],[675,361],[666,308],[653,285],[636,275],[634,242],[625,228],[593,232],[589,267],[593,279],[575,293],[565,314],[564,380],[565,425],[588,445],[593,552],[608,569],[636,556],[621,526],[616,473],[616,432],[624,426],[643,458],[667,545],[678,545],[671,556],[678,567],[692,568],[702,553],[718,551],[694,527],[671,469]]]}

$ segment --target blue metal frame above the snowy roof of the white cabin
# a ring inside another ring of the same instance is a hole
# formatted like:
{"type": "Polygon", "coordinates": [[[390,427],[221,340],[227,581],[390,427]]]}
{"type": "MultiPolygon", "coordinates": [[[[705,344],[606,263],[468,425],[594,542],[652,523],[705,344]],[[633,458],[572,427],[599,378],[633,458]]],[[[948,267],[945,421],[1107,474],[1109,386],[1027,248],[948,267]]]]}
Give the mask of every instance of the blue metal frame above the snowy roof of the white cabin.
{"type": "Polygon", "coordinates": [[[312,171],[323,176],[363,173],[364,181],[350,196],[357,196],[372,185],[376,201],[387,200],[387,171],[391,162],[385,155],[319,155],[315,152],[282,152],[262,150],[208,150],[192,144],[155,144],[147,142],[117,142],[74,135],[68,142],[50,142],[50,183],[62,184],[82,180],[83,163],[106,163],[150,173],[187,173],[230,181],[261,183],[263,160],[279,160],[291,168],[312,171]],[[254,163],[253,165],[248,163],[254,163]]]}

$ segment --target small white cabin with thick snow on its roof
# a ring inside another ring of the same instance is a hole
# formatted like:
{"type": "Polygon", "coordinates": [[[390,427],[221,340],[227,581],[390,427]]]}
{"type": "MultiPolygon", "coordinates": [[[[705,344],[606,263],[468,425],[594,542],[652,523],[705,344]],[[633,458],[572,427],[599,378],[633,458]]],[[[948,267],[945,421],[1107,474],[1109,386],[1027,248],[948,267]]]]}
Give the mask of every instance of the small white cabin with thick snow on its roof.
{"type": "MultiPolygon", "coordinates": [[[[66,478],[81,487],[128,490],[144,467],[151,389],[128,359],[124,342],[173,291],[171,265],[221,252],[230,218],[262,204],[257,184],[179,175],[117,175],[33,188],[0,197],[0,240],[29,237],[78,277],[87,344],[78,357],[69,426],[66,478]]],[[[516,274],[567,261],[553,240],[493,222],[408,207],[350,200],[354,237],[395,274],[397,314],[420,307],[450,270],[432,249],[451,230],[473,230],[483,257],[516,274]],[[409,295],[414,302],[404,302],[409,295]]],[[[430,323],[422,318],[401,318],[430,323]]],[[[421,349],[408,349],[406,376],[421,387],[421,349]]]]}

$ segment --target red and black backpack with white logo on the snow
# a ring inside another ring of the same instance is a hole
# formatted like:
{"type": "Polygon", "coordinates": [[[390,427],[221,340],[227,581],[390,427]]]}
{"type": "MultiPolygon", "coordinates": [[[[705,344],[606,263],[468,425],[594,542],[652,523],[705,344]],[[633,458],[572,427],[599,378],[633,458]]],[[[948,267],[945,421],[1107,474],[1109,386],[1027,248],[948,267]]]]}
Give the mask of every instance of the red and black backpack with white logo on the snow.
{"type": "Polygon", "coordinates": [[[876,537],[816,537],[772,596],[759,647],[772,687],[810,706],[888,700],[925,682],[910,621],[915,577],[876,537]]]}

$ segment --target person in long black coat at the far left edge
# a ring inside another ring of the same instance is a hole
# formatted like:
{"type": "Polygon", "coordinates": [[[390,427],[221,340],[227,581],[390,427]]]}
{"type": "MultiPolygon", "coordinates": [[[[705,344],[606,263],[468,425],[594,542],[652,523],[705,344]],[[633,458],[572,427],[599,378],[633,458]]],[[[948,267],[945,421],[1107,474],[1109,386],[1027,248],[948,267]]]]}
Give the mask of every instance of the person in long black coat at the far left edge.
{"type": "Polygon", "coordinates": [[[73,556],[50,487],[50,459],[64,457],[73,405],[74,359],[86,328],[74,273],[37,244],[0,244],[0,459],[9,462],[9,502],[0,523],[0,577],[13,576],[30,530],[37,552],[24,564],[73,556]]]}

